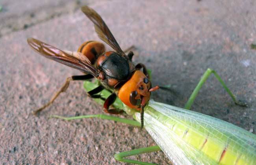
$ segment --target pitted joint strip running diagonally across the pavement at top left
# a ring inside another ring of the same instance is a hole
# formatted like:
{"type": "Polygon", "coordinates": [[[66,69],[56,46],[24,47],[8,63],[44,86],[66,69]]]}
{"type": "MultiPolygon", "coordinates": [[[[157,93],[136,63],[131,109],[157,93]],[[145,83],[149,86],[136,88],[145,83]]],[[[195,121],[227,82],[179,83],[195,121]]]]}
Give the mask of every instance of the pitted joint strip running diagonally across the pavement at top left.
{"type": "MultiPolygon", "coordinates": [[[[101,0],[104,1],[104,0],[101,0]]],[[[0,38],[4,35],[8,35],[15,31],[20,31],[23,29],[27,29],[28,27],[32,27],[36,24],[40,24],[51,20],[53,18],[63,16],[65,14],[74,13],[78,9],[80,9],[83,5],[91,5],[93,4],[93,0],[89,0],[89,2],[80,2],[80,0],[67,2],[59,4],[58,6],[51,6],[47,4],[46,6],[39,6],[33,10],[25,10],[22,14],[19,12],[8,11],[3,4],[1,13],[5,13],[6,15],[0,17],[0,38]]]]}

